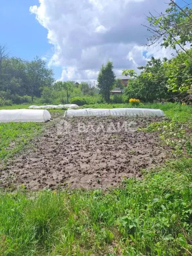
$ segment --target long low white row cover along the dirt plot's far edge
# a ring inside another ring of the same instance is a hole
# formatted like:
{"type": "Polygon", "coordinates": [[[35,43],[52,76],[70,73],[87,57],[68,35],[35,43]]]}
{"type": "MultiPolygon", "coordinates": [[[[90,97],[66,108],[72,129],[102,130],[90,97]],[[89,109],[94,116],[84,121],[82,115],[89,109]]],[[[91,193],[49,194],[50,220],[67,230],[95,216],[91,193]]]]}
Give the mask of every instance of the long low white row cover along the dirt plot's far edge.
{"type": "Polygon", "coordinates": [[[84,108],[68,109],[65,116],[164,116],[160,109],[148,108],[84,108]]]}

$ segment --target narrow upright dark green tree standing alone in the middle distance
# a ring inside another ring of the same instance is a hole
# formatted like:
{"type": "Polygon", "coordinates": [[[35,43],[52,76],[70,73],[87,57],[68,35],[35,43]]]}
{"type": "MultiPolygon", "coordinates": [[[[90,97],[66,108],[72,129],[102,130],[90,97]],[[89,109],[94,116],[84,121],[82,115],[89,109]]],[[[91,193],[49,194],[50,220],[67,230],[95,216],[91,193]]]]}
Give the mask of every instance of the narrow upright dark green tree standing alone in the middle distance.
{"type": "Polygon", "coordinates": [[[98,78],[98,88],[104,100],[108,103],[110,100],[110,90],[115,82],[115,73],[113,71],[113,62],[108,61],[106,65],[102,65],[98,78]]]}

